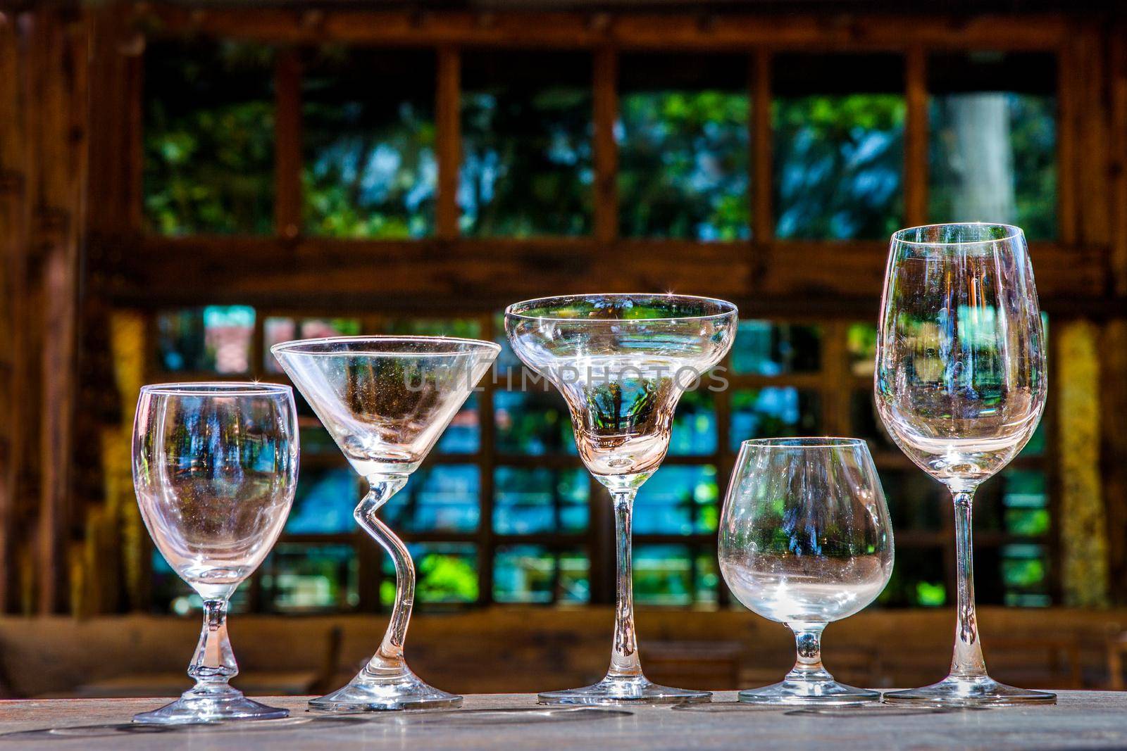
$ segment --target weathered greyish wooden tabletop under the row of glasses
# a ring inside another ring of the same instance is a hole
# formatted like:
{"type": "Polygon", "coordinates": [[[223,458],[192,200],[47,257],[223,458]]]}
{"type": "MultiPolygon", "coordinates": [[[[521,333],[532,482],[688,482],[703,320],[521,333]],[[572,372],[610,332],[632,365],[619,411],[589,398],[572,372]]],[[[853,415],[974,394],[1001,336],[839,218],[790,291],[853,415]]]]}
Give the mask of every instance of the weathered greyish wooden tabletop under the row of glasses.
{"type": "Polygon", "coordinates": [[[159,699],[0,701],[0,751],[28,749],[1127,749],[1127,692],[1061,691],[1056,706],[824,710],[736,704],[721,691],[692,707],[538,707],[532,695],[468,696],[461,709],[325,716],[300,697],[264,699],[292,716],[180,727],[130,723],[159,699]]]}

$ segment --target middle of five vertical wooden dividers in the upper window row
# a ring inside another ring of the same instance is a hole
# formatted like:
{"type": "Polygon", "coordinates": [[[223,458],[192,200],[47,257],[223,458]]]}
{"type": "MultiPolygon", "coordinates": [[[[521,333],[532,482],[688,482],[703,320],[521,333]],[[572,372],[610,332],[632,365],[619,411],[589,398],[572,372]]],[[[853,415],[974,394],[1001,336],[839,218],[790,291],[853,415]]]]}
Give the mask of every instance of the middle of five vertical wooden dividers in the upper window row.
{"type": "Polygon", "coordinates": [[[619,236],[619,57],[614,47],[600,47],[594,61],[595,120],[595,238],[613,242],[619,236]]]}

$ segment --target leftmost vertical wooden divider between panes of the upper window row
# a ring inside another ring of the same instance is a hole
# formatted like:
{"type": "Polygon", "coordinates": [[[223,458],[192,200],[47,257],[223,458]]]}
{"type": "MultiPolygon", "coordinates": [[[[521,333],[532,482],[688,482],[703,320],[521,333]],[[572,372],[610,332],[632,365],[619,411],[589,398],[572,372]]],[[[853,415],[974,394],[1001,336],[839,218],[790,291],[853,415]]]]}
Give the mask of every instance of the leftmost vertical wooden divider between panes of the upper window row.
{"type": "Polygon", "coordinates": [[[298,51],[278,52],[274,69],[274,231],[301,233],[301,60],[298,51]]]}

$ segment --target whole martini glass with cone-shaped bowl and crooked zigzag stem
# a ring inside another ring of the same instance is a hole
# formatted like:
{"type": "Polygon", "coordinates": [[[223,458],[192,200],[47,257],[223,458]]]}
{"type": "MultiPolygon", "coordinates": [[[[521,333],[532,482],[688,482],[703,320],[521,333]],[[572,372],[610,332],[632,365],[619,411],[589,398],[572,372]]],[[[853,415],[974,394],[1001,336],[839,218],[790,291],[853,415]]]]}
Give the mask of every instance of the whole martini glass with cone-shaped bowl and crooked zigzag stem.
{"type": "Polygon", "coordinates": [[[335,337],[270,348],[370,490],[356,522],[396,564],[396,601],[379,651],[352,681],[309,706],[353,713],[458,706],[462,697],[419,680],[403,659],[415,564],[376,511],[418,468],[496,359],[488,341],[445,337],[335,337]]]}

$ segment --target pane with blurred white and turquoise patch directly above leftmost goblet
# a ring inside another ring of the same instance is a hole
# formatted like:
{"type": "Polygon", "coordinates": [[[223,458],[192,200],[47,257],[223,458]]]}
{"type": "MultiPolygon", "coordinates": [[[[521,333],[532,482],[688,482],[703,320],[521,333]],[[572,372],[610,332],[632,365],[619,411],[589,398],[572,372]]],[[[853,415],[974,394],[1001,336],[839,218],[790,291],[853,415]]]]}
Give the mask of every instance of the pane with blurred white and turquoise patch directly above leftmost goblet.
{"type": "Polygon", "coordinates": [[[157,361],[162,370],[236,374],[250,368],[255,309],[208,305],[157,316],[157,361]]]}

